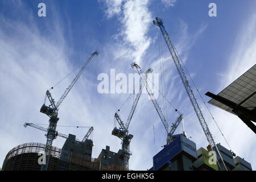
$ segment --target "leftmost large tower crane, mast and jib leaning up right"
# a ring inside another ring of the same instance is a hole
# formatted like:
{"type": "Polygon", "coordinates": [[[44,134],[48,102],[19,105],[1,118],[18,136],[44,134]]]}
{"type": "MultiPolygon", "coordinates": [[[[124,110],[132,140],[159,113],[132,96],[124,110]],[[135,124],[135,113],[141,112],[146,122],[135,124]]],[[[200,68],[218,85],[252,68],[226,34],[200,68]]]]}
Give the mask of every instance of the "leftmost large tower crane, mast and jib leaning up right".
{"type": "MultiPolygon", "coordinates": [[[[49,117],[49,126],[48,126],[48,129],[47,129],[47,135],[46,135],[47,141],[46,141],[46,148],[45,148],[46,164],[42,164],[42,166],[41,166],[42,171],[47,171],[47,168],[48,168],[49,157],[50,157],[50,154],[51,154],[52,142],[53,142],[53,139],[55,139],[56,126],[57,126],[57,122],[59,121],[59,118],[57,117],[58,116],[58,113],[57,113],[58,108],[59,108],[61,102],[63,102],[65,97],[68,95],[70,90],[73,88],[73,86],[76,84],[77,80],[82,75],[82,72],[84,72],[86,67],[89,65],[90,61],[92,61],[93,57],[98,56],[98,55],[99,55],[99,53],[97,51],[93,52],[92,55],[90,55],[89,59],[85,62],[84,66],[80,69],[79,73],[76,75],[74,80],[71,82],[71,84],[65,90],[64,94],[60,97],[60,100],[57,101],[56,104],[55,104],[55,101],[52,98],[51,93],[49,92],[49,90],[47,90],[47,92],[46,92],[46,97],[44,99],[44,104],[40,109],[41,113],[44,113],[44,114],[48,115],[48,117],[49,117]],[[46,98],[47,97],[48,97],[48,100],[50,102],[49,106],[46,106],[46,98]]],[[[51,89],[53,89],[53,88],[51,88],[51,89]]]]}

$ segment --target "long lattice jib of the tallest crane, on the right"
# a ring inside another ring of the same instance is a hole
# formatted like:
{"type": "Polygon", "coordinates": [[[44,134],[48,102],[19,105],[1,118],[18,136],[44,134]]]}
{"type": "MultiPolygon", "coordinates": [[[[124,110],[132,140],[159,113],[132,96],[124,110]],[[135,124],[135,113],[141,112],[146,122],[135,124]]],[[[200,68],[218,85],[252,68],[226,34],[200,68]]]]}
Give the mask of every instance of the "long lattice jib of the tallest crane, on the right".
{"type": "MultiPolygon", "coordinates": [[[[211,147],[211,150],[213,150],[213,147],[216,148],[217,150],[217,154],[220,156],[220,161],[218,162],[217,160],[217,163],[218,163],[218,166],[221,170],[226,170],[228,171],[228,169],[226,168],[226,165],[224,163],[224,160],[222,159],[222,156],[220,154],[220,151],[218,150],[218,147],[217,145],[215,144],[214,140],[213,140],[213,137],[212,137],[212,134],[210,133],[210,130],[209,130],[209,127],[208,127],[208,124],[207,122],[205,121],[205,118],[203,116],[203,113],[199,107],[199,104],[197,103],[196,101],[196,97],[195,95],[193,94],[193,91],[192,91],[192,88],[191,86],[189,85],[189,82],[188,82],[188,79],[187,79],[187,76],[185,75],[185,72],[184,72],[184,69],[181,65],[181,59],[179,57],[179,54],[177,53],[175,47],[174,47],[174,44],[172,44],[171,42],[171,39],[170,39],[170,36],[168,35],[164,25],[163,25],[163,20],[156,17],[155,20],[153,20],[153,23],[158,26],[160,28],[160,31],[162,32],[162,35],[164,37],[164,40],[166,41],[166,44],[167,44],[167,47],[170,51],[170,54],[171,54],[171,57],[172,57],[172,60],[174,60],[174,63],[175,63],[175,66],[177,68],[177,71],[179,72],[179,75],[180,75],[180,78],[181,78],[181,81],[183,82],[183,85],[185,87],[185,90],[188,94],[188,97],[189,97],[189,100],[191,101],[191,104],[193,106],[193,109],[195,110],[196,112],[196,115],[197,115],[197,118],[199,119],[199,122],[200,122],[200,125],[201,127],[203,128],[203,131],[204,131],[204,134],[209,142],[209,145],[211,147]]],[[[215,155],[215,153],[214,153],[215,155]]],[[[216,156],[216,155],[215,155],[216,156]]],[[[217,159],[217,156],[216,156],[216,159],[217,159]]]]}

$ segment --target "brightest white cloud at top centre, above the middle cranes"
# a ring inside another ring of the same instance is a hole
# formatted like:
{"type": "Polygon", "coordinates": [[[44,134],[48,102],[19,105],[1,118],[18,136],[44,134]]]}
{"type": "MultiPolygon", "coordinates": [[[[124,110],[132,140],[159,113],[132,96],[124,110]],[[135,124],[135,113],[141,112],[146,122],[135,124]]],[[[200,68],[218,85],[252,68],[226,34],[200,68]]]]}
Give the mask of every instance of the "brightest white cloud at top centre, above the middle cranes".
{"type": "Polygon", "coordinates": [[[129,57],[130,60],[136,59],[138,63],[141,63],[142,56],[151,43],[150,37],[147,36],[152,21],[148,10],[150,1],[105,1],[105,4],[105,12],[107,14],[115,12],[111,14],[112,16],[118,14],[121,25],[119,32],[113,36],[117,40],[115,58],[129,57]],[[114,11],[113,4],[117,5],[119,11],[114,11]]]}

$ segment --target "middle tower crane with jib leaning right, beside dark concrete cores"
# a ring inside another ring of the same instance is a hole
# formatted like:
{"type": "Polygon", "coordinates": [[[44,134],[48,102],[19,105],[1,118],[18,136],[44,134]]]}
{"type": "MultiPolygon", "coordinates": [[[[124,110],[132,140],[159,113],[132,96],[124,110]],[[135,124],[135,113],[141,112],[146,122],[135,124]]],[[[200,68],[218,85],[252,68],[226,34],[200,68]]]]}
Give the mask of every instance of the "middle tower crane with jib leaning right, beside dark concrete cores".
{"type": "MultiPolygon", "coordinates": [[[[152,73],[152,69],[148,69],[146,72],[146,75],[148,73],[152,73]]],[[[117,113],[115,113],[115,119],[117,120],[118,124],[119,124],[119,129],[117,129],[117,127],[115,127],[112,131],[112,135],[120,138],[122,140],[122,152],[123,152],[123,170],[127,171],[129,170],[129,159],[130,159],[130,142],[131,139],[133,138],[133,135],[129,134],[129,125],[131,122],[131,118],[133,118],[133,114],[134,111],[136,109],[136,106],[138,104],[139,98],[141,97],[142,94],[142,89],[144,86],[144,82],[142,84],[141,79],[139,82],[139,93],[137,94],[134,102],[133,102],[133,106],[131,107],[131,111],[129,113],[129,117],[127,118],[127,121],[125,123],[125,125],[123,124],[123,121],[121,120],[121,118],[119,117],[119,115],[117,113]]]]}

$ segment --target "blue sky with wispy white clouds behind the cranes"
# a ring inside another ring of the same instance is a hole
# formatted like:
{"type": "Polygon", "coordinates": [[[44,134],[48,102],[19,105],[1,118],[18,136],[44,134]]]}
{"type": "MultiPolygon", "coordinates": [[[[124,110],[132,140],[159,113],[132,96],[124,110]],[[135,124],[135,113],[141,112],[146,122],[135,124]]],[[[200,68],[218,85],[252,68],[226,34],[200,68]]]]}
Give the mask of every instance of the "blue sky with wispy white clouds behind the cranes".
{"type": "MultiPolygon", "coordinates": [[[[0,164],[11,148],[21,143],[46,142],[42,131],[24,128],[24,122],[48,123],[39,113],[46,90],[81,65],[93,51],[101,53],[63,101],[59,125],[93,126],[94,150],[97,158],[102,148],[117,152],[120,140],[111,135],[114,113],[129,94],[97,92],[100,73],[135,73],[130,67],[136,60],[141,67],[160,71],[159,44],[165,73],[166,97],[183,114],[188,136],[197,148],[207,140],[159,28],[152,24],[155,16],[164,20],[189,73],[200,93],[218,93],[255,64],[256,2],[205,0],[90,0],[90,1],[0,1],[0,164]],[[46,17],[38,16],[38,4],[46,3],[46,17]],[[217,5],[217,17],[209,17],[208,5],[217,5]],[[161,41],[162,40],[162,41],[161,41]]],[[[52,91],[59,98],[73,73],[52,91]]],[[[160,82],[162,84],[162,82],[160,82]]],[[[161,85],[160,85],[161,88],[161,85]]],[[[195,90],[195,88],[193,88],[195,90]]],[[[196,97],[199,98],[198,94],[196,97]]],[[[205,101],[209,98],[203,96],[205,101]]],[[[200,100],[199,100],[200,101],[200,100]]],[[[126,120],[132,100],[121,110],[126,120]]],[[[162,98],[158,102],[163,107],[162,98]]],[[[200,101],[210,131],[216,142],[228,148],[207,110],[200,101]]],[[[209,106],[232,150],[256,168],[255,134],[240,119],[209,106]],[[238,130],[239,129],[239,130],[238,130]]],[[[168,106],[167,121],[177,114],[168,106]]],[[[58,129],[82,139],[84,129],[58,129]]],[[[180,127],[177,130],[179,133],[180,127]]],[[[166,140],[164,127],[147,94],[139,100],[130,125],[131,169],[145,170],[152,166],[152,156],[166,140]],[[150,112],[148,112],[150,111],[150,112]],[[152,126],[155,126],[155,143],[152,126]]],[[[53,142],[61,147],[63,138],[53,142]]]]}

